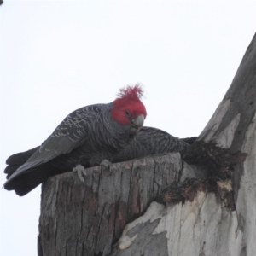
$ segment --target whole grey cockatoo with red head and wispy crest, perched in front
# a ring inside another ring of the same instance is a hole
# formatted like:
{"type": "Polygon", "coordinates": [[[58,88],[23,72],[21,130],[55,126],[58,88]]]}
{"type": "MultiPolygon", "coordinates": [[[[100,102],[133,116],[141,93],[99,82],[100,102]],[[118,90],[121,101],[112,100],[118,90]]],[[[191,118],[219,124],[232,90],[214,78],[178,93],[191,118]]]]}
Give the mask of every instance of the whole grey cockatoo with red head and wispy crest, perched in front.
{"type": "Polygon", "coordinates": [[[112,161],[143,125],[147,113],[139,99],[142,94],[138,84],[128,86],[114,102],[70,113],[40,147],[9,157],[4,188],[26,195],[47,177],[71,171],[77,164],[89,167],[112,161]]]}

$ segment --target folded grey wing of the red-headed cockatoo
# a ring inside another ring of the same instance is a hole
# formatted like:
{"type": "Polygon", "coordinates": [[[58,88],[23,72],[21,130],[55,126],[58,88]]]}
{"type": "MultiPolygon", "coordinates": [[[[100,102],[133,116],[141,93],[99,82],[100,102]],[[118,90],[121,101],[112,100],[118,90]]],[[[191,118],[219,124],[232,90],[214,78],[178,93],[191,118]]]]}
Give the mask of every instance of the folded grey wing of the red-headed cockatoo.
{"type": "Polygon", "coordinates": [[[26,163],[9,177],[6,183],[21,173],[28,172],[56,156],[70,153],[74,148],[78,148],[87,140],[90,127],[100,115],[100,104],[79,108],[70,113],[26,163]]]}

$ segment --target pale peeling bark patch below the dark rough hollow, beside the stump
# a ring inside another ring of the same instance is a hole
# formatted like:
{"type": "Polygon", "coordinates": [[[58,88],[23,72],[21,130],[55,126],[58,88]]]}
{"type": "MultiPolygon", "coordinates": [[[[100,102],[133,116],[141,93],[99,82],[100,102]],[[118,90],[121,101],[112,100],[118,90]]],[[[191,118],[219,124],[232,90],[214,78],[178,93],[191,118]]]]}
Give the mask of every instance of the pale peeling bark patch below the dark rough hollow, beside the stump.
{"type": "Polygon", "coordinates": [[[212,193],[201,192],[192,202],[168,207],[152,202],[142,217],[125,227],[119,239],[122,249],[115,248],[110,255],[240,255],[236,226],[236,212],[221,207],[212,193]],[[158,250],[151,253],[155,246],[158,250]]]}

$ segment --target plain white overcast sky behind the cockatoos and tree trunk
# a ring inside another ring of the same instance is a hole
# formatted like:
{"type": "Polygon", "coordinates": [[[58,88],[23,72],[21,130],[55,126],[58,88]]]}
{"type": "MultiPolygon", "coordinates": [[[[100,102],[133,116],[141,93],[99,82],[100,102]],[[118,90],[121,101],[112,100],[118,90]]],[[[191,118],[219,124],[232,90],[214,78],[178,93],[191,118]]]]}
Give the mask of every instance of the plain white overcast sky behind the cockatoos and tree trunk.
{"type": "MultiPolygon", "coordinates": [[[[1,170],[68,113],[112,102],[126,84],[144,85],[145,125],[199,135],[253,38],[255,10],[255,1],[5,1],[1,170]]],[[[0,190],[1,256],[37,254],[40,193],[0,190]]]]}

